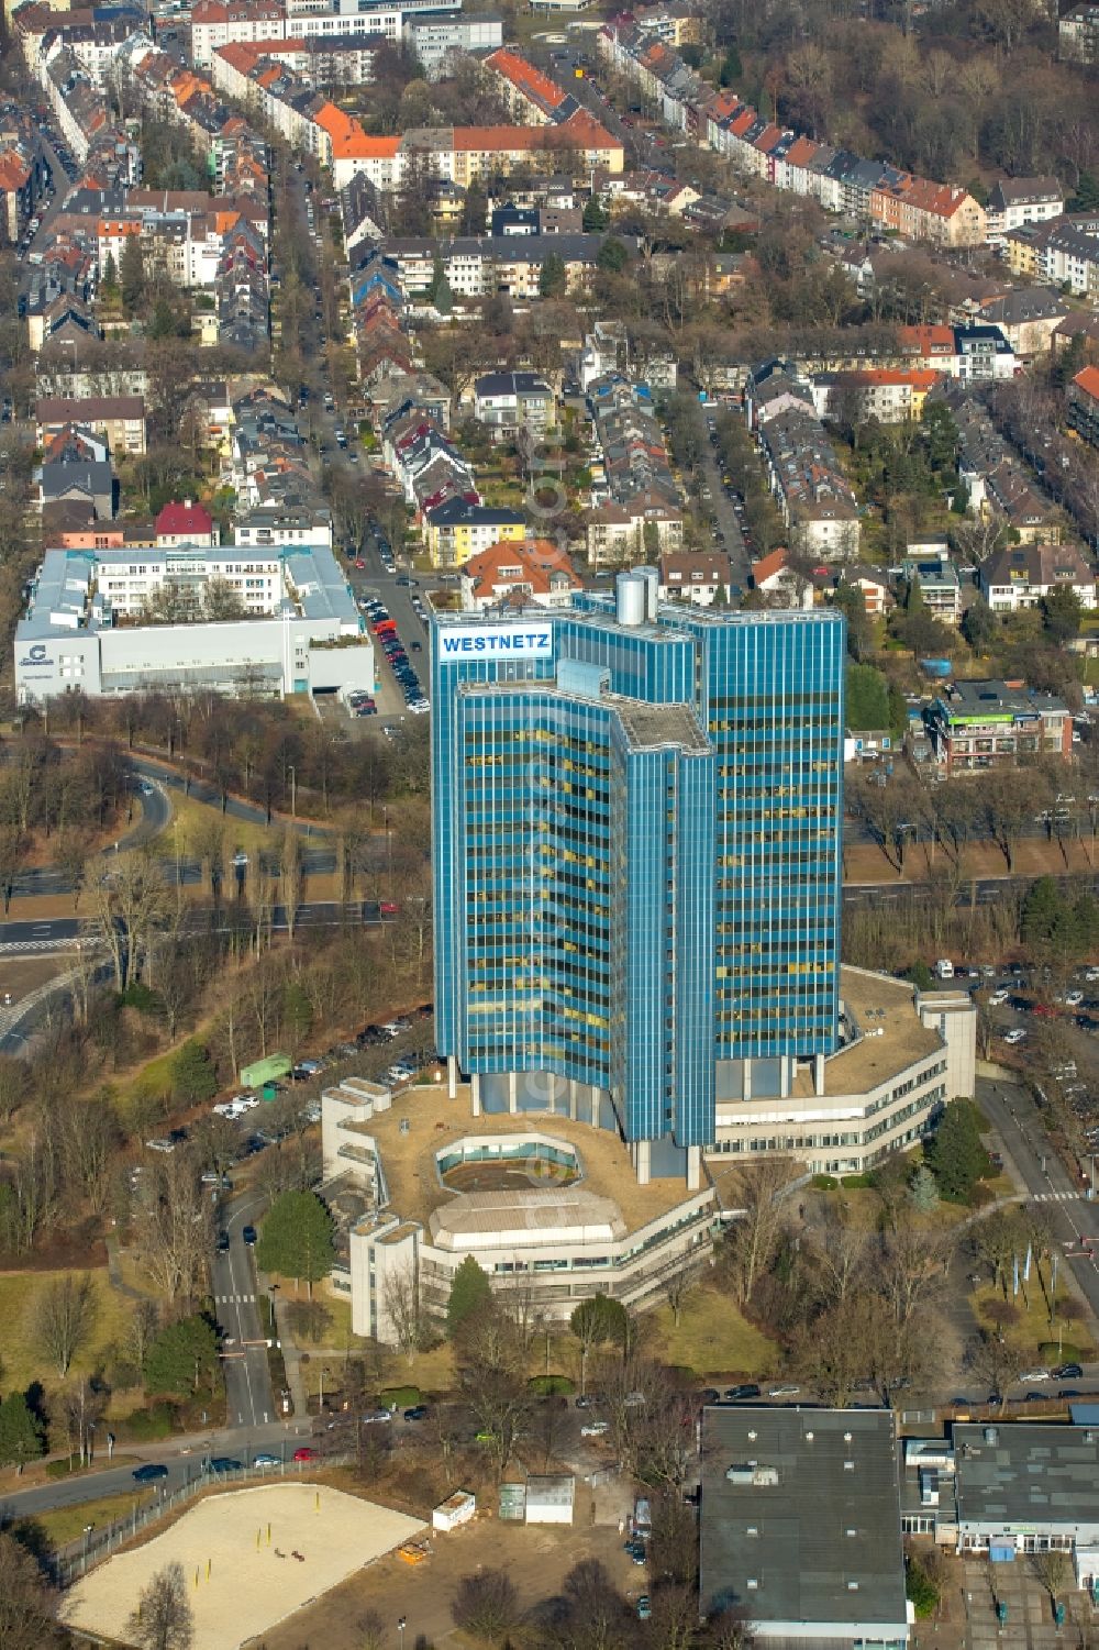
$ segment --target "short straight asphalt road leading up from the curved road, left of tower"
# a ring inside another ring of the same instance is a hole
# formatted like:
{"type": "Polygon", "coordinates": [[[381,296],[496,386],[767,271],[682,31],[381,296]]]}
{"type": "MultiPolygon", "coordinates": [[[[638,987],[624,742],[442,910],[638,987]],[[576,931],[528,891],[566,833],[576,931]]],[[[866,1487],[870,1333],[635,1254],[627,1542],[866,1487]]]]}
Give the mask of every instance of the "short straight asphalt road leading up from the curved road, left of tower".
{"type": "Polygon", "coordinates": [[[256,1307],[256,1257],[241,1236],[256,1221],[262,1201],[244,1198],[228,1204],[223,1231],[229,1236],[224,1254],[210,1262],[210,1287],[221,1325],[226,1416],[234,1427],[269,1426],[277,1419],[267,1345],[256,1307]]]}

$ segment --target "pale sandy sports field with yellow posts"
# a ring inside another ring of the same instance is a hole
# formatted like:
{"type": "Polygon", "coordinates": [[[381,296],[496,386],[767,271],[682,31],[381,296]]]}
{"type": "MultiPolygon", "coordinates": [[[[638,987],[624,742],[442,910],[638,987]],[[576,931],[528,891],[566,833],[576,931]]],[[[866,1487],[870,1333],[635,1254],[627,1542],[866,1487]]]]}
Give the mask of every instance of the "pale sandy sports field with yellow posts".
{"type": "Polygon", "coordinates": [[[125,1643],[142,1589],[165,1564],[180,1563],[195,1610],[195,1650],[236,1650],[422,1528],[404,1513],[315,1483],[229,1490],[94,1569],[73,1587],[63,1615],[73,1627],[125,1643]]]}

